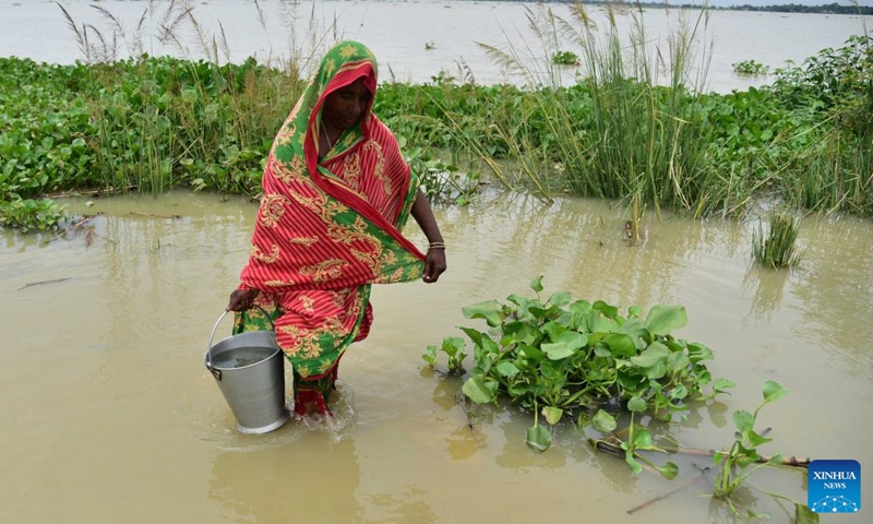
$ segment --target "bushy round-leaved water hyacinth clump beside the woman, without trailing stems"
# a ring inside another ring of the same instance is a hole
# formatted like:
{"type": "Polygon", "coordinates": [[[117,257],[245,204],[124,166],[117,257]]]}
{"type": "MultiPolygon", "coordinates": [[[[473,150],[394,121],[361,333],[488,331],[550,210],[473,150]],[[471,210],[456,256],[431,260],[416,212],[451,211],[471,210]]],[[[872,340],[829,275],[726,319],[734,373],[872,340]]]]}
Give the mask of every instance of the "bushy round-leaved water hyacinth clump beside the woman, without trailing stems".
{"type": "MultiPolygon", "coordinates": [[[[670,420],[686,410],[689,402],[711,398],[733,385],[718,380],[705,391],[713,382],[705,365],[713,352],[671,334],[687,320],[681,306],[658,305],[647,313],[633,306],[621,315],[619,308],[601,300],[574,301],[569,291],[543,300],[541,276],[530,288],[536,298],[510,295],[505,302],[463,308],[466,318],[485,320],[488,331],[459,327],[473,343],[474,356],[462,390],[477,404],[505,397],[533,412],[527,443],[537,451],[551,444],[540,415],[555,425],[565,415],[578,414],[576,424],[609,430],[615,420],[600,408],[607,403],[670,420]]],[[[449,356],[450,370],[461,369],[458,360],[467,353],[463,338],[444,338],[440,350],[449,356]]],[[[431,367],[436,352],[431,346],[423,356],[431,367]]],[[[629,457],[650,446],[647,430],[636,434],[629,457]]]]}

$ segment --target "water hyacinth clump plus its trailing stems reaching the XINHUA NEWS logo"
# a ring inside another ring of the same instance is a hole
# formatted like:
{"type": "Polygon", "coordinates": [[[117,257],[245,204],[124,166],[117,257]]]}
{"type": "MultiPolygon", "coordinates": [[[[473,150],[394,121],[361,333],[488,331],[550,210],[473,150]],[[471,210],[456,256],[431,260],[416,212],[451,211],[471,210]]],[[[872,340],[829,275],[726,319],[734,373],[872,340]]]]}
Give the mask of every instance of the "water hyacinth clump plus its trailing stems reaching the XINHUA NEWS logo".
{"type": "MultiPolygon", "coordinates": [[[[473,403],[509,402],[533,414],[534,426],[526,436],[533,450],[548,450],[552,427],[570,419],[579,428],[590,426],[601,436],[589,439],[591,445],[621,457],[637,474],[648,468],[668,479],[679,475],[674,462],[656,462],[653,453],[711,455],[711,466],[701,475],[714,471],[713,497],[723,500],[743,521],[766,516],[738,493],[750,477],[764,467],[800,466],[803,471],[809,464],[809,460],[765,456],[758,451],[773,440],[767,437],[769,429],[756,429],[758,413],[787,394],[775,381],[764,383],[763,400],[754,412],[733,412],[737,431],[727,450],[666,450],[656,444],[651,429],[641,420],[670,421],[693,403],[710,401],[736,385],[727,379],[713,380],[706,362],[714,355],[706,345],[672,334],[686,323],[683,307],[658,305],[645,312],[633,306],[623,315],[600,300],[573,300],[567,291],[543,299],[541,276],[530,282],[530,288],[535,298],[513,294],[505,301],[463,308],[464,317],[482,320],[488,327],[461,326],[471,347],[464,338],[447,336],[442,344],[428,346],[422,358],[435,368],[443,355],[450,374],[466,377],[462,391],[473,403]],[[473,366],[466,369],[470,355],[473,366]],[[630,419],[621,430],[619,419],[624,417],[618,410],[630,419]]],[[[765,493],[792,503],[796,523],[818,522],[804,504],[765,493]]]]}

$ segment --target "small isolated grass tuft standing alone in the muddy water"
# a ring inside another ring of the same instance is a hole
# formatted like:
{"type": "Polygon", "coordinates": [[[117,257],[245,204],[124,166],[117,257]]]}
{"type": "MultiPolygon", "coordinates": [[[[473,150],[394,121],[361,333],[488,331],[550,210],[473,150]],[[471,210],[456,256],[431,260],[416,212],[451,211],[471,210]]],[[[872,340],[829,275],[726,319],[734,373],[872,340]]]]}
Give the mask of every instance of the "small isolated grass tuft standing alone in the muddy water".
{"type": "Polygon", "coordinates": [[[800,218],[779,210],[770,211],[765,231],[762,219],[752,233],[752,258],[765,267],[793,267],[800,263],[802,253],[796,242],[800,230],[800,218]]]}

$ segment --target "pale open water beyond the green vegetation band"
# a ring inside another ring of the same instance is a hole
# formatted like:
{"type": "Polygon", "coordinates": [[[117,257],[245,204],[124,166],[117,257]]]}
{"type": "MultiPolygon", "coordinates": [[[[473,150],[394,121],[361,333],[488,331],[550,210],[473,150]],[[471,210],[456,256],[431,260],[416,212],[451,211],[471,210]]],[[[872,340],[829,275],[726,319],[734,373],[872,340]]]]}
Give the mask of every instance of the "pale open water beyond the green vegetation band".
{"type": "MultiPolygon", "coordinates": [[[[278,64],[290,49],[301,49],[308,56],[313,46],[339,38],[363,41],[373,49],[381,64],[381,79],[428,82],[444,71],[462,76],[466,64],[479,83],[521,82],[517,76],[501,70],[488,58],[477,43],[515,49],[522,61],[539,81],[547,74],[542,43],[529,28],[528,9],[541,14],[529,2],[474,1],[335,1],[292,2],[279,0],[252,1],[203,0],[190,2],[196,27],[186,20],[174,24],[176,15],[167,16],[168,1],[143,0],[65,0],[65,7],[79,31],[87,29],[89,41],[97,33],[106,41],[118,34],[117,56],[128,56],[140,49],[151,55],[176,55],[190,58],[217,56],[218,60],[239,62],[254,56],[262,62],[278,64]],[[153,4],[147,10],[148,4],[153,4]],[[92,7],[98,7],[99,12],[92,7]],[[259,9],[260,8],[260,9],[259,9]],[[146,16],[143,17],[143,14],[146,16]],[[109,15],[113,21],[109,21],[109,15]],[[142,23],[141,23],[142,20],[142,23]],[[117,31],[119,24],[122,31],[117,31]],[[172,26],[175,38],[162,26],[172,26]],[[141,31],[136,31],[140,27],[141,31]],[[141,46],[136,44],[136,35],[141,46]],[[224,36],[223,36],[224,35],[224,36]],[[538,66],[540,64],[540,66],[538,66]]],[[[180,2],[177,2],[180,3],[180,2]]],[[[570,19],[567,5],[552,4],[550,9],[570,19]]],[[[591,20],[607,26],[602,9],[590,8],[591,20]]],[[[756,60],[774,68],[787,60],[802,62],[823,48],[840,47],[851,35],[873,28],[873,16],[755,13],[743,11],[710,11],[698,20],[695,11],[647,10],[643,14],[649,52],[669,56],[671,32],[697,22],[695,71],[686,82],[704,91],[730,92],[767,83],[772,78],[741,76],[732,64],[756,60]],[[701,67],[708,63],[706,81],[698,82],[701,67]]],[[[618,27],[629,38],[633,17],[620,14],[618,27]]],[[[576,25],[574,24],[574,27],[576,25]]],[[[561,50],[583,51],[563,40],[561,50]]],[[[72,63],[85,57],[76,45],[56,2],[49,0],[0,0],[0,56],[28,57],[37,61],[72,63]]],[[[572,83],[576,68],[562,68],[559,75],[572,83]]]]}

